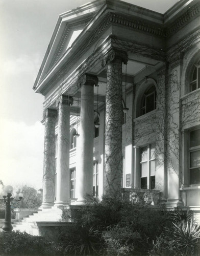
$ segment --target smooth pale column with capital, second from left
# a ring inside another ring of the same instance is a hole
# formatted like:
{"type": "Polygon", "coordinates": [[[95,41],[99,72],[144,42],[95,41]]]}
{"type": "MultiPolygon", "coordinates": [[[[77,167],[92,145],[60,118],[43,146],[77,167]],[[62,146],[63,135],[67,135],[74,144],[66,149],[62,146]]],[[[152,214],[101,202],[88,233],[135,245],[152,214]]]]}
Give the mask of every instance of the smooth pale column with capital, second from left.
{"type": "Polygon", "coordinates": [[[58,114],[58,149],[57,149],[57,186],[56,204],[62,206],[69,203],[70,198],[70,173],[69,173],[69,122],[70,104],[73,98],[62,95],[59,102],[58,114]]]}

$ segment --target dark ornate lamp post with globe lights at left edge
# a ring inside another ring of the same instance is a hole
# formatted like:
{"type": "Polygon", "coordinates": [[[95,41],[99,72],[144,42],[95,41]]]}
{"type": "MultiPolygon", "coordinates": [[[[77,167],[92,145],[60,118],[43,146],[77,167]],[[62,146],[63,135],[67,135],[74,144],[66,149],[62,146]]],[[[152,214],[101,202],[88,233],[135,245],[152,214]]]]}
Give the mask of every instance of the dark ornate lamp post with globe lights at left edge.
{"type": "Polygon", "coordinates": [[[8,185],[4,188],[4,199],[0,199],[6,203],[6,212],[5,212],[5,221],[2,229],[5,232],[10,232],[13,229],[11,224],[11,202],[12,201],[21,201],[23,195],[19,193],[19,199],[14,199],[12,196],[13,187],[8,185]]]}

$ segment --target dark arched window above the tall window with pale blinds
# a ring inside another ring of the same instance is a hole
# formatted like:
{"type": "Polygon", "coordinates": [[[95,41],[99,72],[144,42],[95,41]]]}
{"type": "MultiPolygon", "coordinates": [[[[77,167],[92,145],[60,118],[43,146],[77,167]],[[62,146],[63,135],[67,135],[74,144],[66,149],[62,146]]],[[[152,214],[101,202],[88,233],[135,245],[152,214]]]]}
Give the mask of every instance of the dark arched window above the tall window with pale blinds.
{"type": "Polygon", "coordinates": [[[156,109],[156,87],[148,88],[143,97],[141,105],[141,115],[151,112],[156,109]]]}

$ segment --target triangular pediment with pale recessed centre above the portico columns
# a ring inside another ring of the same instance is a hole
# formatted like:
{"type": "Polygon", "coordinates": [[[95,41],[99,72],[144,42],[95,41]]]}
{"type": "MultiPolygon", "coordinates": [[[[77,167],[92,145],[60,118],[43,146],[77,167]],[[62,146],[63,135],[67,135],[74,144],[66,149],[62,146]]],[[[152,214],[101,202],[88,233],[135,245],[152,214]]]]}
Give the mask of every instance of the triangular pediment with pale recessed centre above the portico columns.
{"type": "Polygon", "coordinates": [[[52,38],[46,50],[34,88],[51,71],[62,56],[70,51],[73,42],[86,29],[92,18],[104,4],[104,0],[83,5],[59,16],[52,38]],[[90,11],[88,12],[88,7],[90,11]]]}

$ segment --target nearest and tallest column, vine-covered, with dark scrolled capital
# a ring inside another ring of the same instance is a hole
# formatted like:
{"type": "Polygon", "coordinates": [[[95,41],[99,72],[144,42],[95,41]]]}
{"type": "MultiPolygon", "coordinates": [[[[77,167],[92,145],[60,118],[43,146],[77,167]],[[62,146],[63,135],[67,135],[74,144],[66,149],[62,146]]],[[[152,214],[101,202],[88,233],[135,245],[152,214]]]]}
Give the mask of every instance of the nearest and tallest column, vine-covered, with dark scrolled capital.
{"type": "Polygon", "coordinates": [[[107,65],[106,123],[105,123],[105,193],[121,193],[122,175],[122,62],[128,56],[111,50],[103,60],[107,65]]]}

